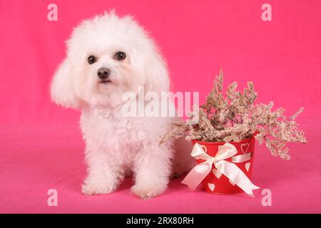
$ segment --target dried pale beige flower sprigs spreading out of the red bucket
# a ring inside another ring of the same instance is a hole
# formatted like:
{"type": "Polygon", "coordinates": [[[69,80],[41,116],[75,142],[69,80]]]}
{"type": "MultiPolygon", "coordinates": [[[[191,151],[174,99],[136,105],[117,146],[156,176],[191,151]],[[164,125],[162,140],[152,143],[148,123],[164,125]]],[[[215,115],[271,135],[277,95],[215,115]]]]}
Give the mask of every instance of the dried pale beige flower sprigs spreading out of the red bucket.
{"type": "Polygon", "coordinates": [[[255,104],[258,94],[252,82],[243,93],[237,90],[236,82],[230,84],[223,95],[223,72],[216,76],[213,89],[206,103],[194,107],[188,121],[173,123],[173,129],[161,138],[179,138],[187,132],[186,140],[205,142],[240,142],[255,136],[261,145],[263,142],[272,155],[289,160],[287,142],[307,142],[305,134],[295,121],[303,108],[287,118],[284,108],[272,111],[273,103],[255,104]],[[197,123],[192,120],[198,118],[197,123]]]}

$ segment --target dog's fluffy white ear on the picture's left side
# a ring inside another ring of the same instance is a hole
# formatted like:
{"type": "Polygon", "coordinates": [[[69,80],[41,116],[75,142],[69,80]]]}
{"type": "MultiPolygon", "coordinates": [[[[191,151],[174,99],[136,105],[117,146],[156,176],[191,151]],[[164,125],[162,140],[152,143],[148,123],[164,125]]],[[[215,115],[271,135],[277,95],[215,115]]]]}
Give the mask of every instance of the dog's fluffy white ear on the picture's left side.
{"type": "Polygon", "coordinates": [[[68,58],[58,67],[51,82],[51,100],[66,108],[78,108],[79,99],[73,90],[72,71],[68,58]]]}

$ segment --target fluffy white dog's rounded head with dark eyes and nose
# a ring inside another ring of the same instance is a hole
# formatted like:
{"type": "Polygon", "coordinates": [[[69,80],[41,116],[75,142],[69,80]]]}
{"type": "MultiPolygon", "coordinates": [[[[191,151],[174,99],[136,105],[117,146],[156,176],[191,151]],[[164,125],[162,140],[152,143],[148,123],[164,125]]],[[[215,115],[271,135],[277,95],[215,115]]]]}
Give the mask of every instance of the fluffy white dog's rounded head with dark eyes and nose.
{"type": "Polygon", "coordinates": [[[117,105],[123,93],[168,91],[163,58],[146,31],[131,17],[113,12],[83,21],[67,41],[67,56],[51,83],[59,105],[117,105]]]}

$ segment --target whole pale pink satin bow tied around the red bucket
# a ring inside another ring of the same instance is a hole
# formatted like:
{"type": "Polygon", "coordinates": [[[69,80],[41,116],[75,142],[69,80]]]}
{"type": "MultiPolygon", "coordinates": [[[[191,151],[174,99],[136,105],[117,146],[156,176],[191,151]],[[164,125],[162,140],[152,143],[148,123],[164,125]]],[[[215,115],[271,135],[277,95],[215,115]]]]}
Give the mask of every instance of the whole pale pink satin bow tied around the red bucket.
{"type": "Polygon", "coordinates": [[[253,183],[248,179],[248,177],[240,170],[240,168],[233,162],[244,162],[250,159],[250,153],[245,155],[238,155],[233,157],[238,153],[235,146],[226,142],[224,145],[218,147],[218,153],[215,157],[208,155],[203,148],[195,143],[190,155],[195,159],[205,160],[205,162],[200,163],[193,167],[188,175],[184,178],[182,183],[188,185],[190,190],[195,190],[196,187],[204,180],[204,178],[212,170],[212,166],[223,173],[228,179],[238,185],[244,192],[246,192],[251,197],[254,197],[253,190],[257,190],[260,187],[253,185],[253,183]],[[228,162],[226,159],[232,157],[233,162],[228,162]]]}

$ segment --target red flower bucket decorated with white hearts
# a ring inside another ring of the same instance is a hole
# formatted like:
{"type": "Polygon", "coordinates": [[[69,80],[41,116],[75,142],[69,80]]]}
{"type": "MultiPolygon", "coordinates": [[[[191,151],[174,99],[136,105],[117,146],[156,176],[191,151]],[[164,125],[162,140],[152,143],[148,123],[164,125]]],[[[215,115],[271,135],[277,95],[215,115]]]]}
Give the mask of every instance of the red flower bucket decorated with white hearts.
{"type": "MultiPolygon", "coordinates": [[[[210,155],[211,157],[215,157],[216,153],[218,152],[218,147],[224,145],[225,142],[202,142],[198,140],[193,140],[193,145],[197,142],[203,150],[210,155]]],[[[242,140],[240,142],[229,142],[230,144],[234,145],[238,153],[238,155],[245,155],[250,153],[250,159],[245,162],[235,162],[234,164],[237,165],[240,170],[244,172],[244,174],[251,180],[252,169],[253,169],[253,155],[255,150],[255,138],[242,140]]],[[[234,157],[234,156],[233,156],[234,157]]],[[[226,159],[228,162],[233,162],[233,157],[226,159]]],[[[204,160],[196,160],[198,164],[205,162],[204,160]]],[[[209,193],[217,193],[217,194],[235,194],[243,192],[240,187],[235,185],[232,181],[228,179],[225,175],[215,169],[213,165],[211,172],[205,177],[202,181],[203,189],[209,193]]]]}

